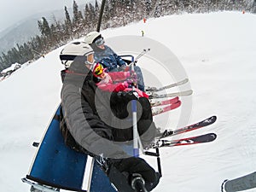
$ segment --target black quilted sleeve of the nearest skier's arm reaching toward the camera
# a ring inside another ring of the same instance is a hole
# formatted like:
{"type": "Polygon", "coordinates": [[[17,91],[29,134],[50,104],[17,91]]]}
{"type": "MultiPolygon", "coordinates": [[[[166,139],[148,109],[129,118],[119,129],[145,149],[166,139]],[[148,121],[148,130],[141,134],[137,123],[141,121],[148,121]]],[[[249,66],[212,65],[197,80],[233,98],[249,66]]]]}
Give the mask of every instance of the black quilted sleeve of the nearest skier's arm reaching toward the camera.
{"type": "Polygon", "coordinates": [[[127,156],[118,144],[111,141],[111,129],[93,113],[88,102],[81,100],[79,89],[73,84],[62,88],[61,107],[68,130],[87,151],[104,157],[127,156]]]}

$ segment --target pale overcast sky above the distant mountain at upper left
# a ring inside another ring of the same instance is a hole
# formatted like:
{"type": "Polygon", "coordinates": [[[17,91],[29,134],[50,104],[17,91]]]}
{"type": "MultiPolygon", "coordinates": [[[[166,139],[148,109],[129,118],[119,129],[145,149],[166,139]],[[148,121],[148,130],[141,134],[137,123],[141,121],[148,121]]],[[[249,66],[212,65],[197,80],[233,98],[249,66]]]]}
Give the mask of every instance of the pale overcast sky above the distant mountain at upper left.
{"type": "MultiPolygon", "coordinates": [[[[73,0],[0,0],[0,32],[26,17],[40,12],[72,7],[73,0]]],[[[75,0],[84,4],[88,0],[75,0]]],[[[101,2],[101,1],[98,1],[101,2]]]]}

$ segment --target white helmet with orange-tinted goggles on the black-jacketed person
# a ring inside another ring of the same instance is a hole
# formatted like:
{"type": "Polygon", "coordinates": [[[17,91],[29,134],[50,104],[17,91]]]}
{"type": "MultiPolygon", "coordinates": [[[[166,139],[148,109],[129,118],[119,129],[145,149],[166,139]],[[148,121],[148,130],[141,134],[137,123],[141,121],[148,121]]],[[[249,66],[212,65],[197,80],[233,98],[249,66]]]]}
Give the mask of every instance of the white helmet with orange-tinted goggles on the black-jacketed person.
{"type": "Polygon", "coordinates": [[[65,65],[66,68],[69,68],[75,59],[81,58],[81,61],[84,61],[85,64],[93,65],[93,49],[89,44],[84,42],[73,42],[67,44],[67,46],[61,50],[61,63],[65,65]]]}

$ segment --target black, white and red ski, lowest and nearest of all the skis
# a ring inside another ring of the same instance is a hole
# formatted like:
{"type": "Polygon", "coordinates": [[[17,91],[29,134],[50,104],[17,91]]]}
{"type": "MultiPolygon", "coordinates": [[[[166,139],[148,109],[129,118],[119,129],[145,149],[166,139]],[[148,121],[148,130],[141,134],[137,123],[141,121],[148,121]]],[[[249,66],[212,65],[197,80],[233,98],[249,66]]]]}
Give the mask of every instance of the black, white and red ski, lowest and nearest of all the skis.
{"type": "Polygon", "coordinates": [[[215,133],[207,133],[205,135],[187,137],[187,138],[176,139],[176,140],[158,140],[156,143],[153,144],[152,148],[209,143],[214,141],[216,138],[217,138],[217,135],[215,133]]]}

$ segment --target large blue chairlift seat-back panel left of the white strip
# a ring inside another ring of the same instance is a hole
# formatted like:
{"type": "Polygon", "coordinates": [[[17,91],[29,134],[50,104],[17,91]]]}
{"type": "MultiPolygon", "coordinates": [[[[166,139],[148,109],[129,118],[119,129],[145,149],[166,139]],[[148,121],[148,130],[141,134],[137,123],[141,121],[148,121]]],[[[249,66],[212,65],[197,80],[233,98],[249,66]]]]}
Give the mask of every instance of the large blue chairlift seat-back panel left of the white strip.
{"type": "Polygon", "coordinates": [[[52,119],[27,177],[61,189],[81,190],[87,155],[68,148],[59,127],[59,120],[52,119]]]}

